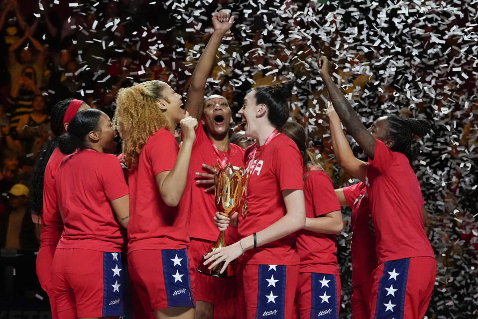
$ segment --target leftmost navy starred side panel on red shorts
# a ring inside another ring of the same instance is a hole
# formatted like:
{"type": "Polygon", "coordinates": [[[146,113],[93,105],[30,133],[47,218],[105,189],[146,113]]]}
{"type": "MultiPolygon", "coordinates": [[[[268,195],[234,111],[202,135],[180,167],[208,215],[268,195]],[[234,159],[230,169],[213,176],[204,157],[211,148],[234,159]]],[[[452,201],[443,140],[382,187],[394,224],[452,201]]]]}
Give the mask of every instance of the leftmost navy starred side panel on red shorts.
{"type": "Polygon", "coordinates": [[[121,253],[103,253],[103,317],[123,315],[122,270],[121,253]]]}

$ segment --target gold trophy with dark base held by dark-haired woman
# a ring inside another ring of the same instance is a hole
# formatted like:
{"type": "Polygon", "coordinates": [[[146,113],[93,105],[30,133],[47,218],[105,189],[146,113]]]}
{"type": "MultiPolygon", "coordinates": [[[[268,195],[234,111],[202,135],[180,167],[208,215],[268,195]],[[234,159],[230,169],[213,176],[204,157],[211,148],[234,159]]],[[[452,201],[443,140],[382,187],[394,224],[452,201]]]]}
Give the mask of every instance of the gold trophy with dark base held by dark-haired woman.
{"type": "MultiPolygon", "coordinates": [[[[248,180],[249,172],[246,172],[244,167],[240,167],[238,170],[234,171],[231,164],[227,164],[226,167],[222,168],[219,163],[216,163],[214,170],[214,193],[216,208],[221,215],[229,217],[244,204],[242,196],[248,180]],[[228,175],[227,172],[229,171],[233,171],[233,173],[228,175]]],[[[204,265],[204,261],[206,260],[204,257],[207,254],[225,246],[227,245],[224,241],[224,231],[222,231],[211,249],[203,255],[203,259],[197,271],[201,274],[214,277],[233,277],[235,274],[234,268],[231,264],[228,265],[227,269],[222,274],[220,273],[224,266],[224,261],[211,269],[208,269],[209,265],[204,265]]]]}

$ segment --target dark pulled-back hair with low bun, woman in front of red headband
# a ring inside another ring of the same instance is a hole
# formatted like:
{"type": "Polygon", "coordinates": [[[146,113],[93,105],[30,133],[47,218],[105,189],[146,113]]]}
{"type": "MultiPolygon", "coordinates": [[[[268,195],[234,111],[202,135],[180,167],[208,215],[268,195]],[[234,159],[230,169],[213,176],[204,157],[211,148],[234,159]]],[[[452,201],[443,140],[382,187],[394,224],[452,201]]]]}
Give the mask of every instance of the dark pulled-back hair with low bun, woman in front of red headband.
{"type": "Polygon", "coordinates": [[[91,131],[98,131],[101,114],[102,112],[96,109],[78,112],[68,124],[67,132],[58,138],[61,153],[72,154],[76,149],[85,148],[86,136],[91,131]]]}

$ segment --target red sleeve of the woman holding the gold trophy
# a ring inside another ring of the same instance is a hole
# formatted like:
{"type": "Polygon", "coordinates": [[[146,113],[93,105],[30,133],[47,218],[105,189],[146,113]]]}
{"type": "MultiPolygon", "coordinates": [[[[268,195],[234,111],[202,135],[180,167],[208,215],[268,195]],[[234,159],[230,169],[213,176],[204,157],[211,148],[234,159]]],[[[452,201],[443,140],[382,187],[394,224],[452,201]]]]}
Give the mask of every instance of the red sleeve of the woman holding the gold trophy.
{"type": "Polygon", "coordinates": [[[293,143],[291,140],[290,143],[284,143],[276,148],[274,159],[270,159],[273,161],[280,190],[304,189],[302,157],[293,143]]]}

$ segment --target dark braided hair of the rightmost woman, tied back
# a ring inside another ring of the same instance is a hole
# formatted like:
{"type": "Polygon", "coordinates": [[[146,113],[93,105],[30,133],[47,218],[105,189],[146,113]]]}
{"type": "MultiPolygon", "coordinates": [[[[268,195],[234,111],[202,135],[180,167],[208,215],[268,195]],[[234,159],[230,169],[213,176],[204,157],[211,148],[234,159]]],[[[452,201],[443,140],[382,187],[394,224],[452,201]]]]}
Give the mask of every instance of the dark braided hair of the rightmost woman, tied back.
{"type": "Polygon", "coordinates": [[[388,137],[393,140],[391,151],[404,154],[410,163],[418,156],[420,149],[415,136],[424,137],[430,132],[430,125],[423,120],[402,119],[388,116],[388,137]]]}

